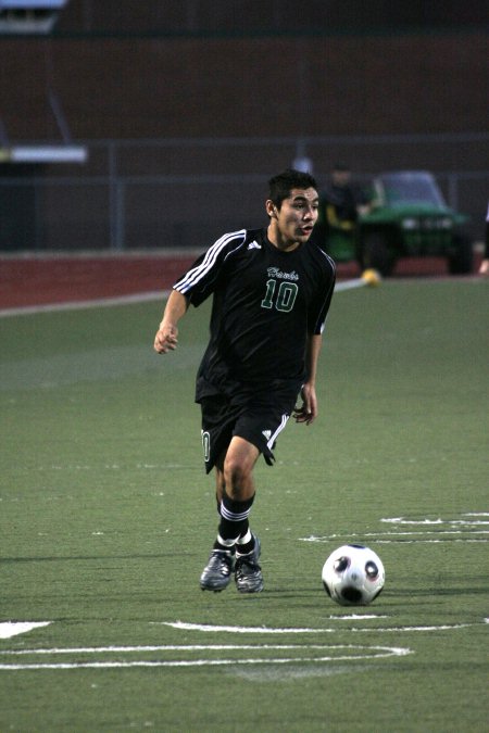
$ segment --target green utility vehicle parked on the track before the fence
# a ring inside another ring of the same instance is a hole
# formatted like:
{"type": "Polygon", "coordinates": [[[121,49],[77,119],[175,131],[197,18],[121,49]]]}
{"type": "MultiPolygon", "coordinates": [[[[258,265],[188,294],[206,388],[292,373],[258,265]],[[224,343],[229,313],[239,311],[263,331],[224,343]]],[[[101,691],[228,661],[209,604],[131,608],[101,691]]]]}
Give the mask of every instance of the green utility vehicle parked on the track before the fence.
{"type": "Polygon", "coordinates": [[[446,256],[451,274],[473,268],[473,247],[462,227],[468,217],[450,208],[430,173],[386,173],[372,182],[372,206],[356,231],[333,230],[326,251],[337,262],[390,275],[401,257],[446,256]]]}

